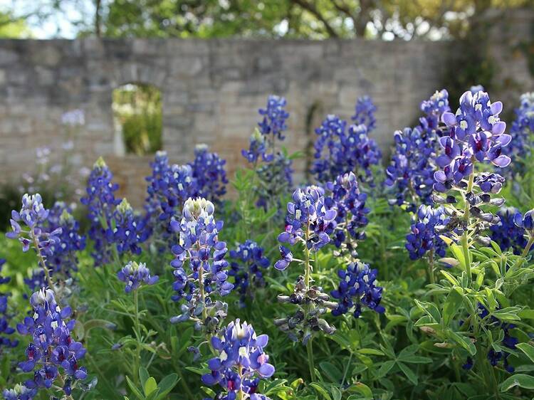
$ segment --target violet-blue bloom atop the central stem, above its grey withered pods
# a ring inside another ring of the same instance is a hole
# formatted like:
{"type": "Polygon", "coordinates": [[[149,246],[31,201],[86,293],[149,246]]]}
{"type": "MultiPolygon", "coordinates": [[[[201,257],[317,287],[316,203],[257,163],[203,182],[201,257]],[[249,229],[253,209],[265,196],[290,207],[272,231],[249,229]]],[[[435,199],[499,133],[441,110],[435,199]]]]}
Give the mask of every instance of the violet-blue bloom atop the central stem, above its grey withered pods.
{"type": "MultiPolygon", "coordinates": [[[[330,234],[335,227],[336,211],[327,209],[323,189],[307,186],[293,193],[293,201],[288,203],[286,230],[278,235],[281,243],[303,243],[311,251],[318,251],[330,242],[330,234]]],[[[282,246],[281,246],[282,251],[282,246]]],[[[285,270],[289,262],[283,255],[274,267],[285,270]]]]}

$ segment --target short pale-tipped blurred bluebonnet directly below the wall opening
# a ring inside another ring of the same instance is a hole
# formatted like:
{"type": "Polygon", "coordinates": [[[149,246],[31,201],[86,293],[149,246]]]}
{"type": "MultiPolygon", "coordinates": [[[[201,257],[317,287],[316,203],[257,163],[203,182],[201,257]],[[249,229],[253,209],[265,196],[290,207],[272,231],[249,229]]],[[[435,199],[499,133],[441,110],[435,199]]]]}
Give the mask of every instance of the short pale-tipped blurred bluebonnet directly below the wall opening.
{"type": "Polygon", "coordinates": [[[112,214],[110,226],[105,231],[106,240],[116,246],[118,253],[130,251],[140,254],[140,244],[147,240],[150,231],[145,226],[145,219],[136,216],[132,206],[122,199],[112,214]]]}

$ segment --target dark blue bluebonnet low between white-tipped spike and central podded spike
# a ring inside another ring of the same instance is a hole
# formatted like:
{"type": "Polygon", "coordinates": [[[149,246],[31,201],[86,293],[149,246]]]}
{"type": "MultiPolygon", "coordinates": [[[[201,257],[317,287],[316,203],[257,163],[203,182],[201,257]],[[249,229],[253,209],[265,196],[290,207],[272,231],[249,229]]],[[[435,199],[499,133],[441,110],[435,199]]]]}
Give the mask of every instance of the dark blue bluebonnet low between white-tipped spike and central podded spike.
{"type": "Polygon", "coordinates": [[[245,307],[247,295],[253,288],[265,285],[262,270],[269,266],[269,259],[264,256],[263,248],[255,241],[239,243],[236,250],[230,251],[234,260],[230,263],[228,275],[234,277],[234,289],[239,291],[239,305],[245,307]]]}

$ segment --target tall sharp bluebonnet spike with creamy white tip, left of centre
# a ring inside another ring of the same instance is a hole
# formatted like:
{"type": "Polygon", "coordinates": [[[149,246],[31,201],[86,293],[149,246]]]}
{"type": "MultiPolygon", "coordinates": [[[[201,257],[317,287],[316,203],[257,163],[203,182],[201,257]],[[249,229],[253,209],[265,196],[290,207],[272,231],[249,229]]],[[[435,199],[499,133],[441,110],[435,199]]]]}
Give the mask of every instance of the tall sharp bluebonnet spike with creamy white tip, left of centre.
{"type": "Polygon", "coordinates": [[[226,243],[219,241],[218,237],[223,222],[215,221],[214,211],[215,207],[209,200],[187,199],[182,220],[171,221],[173,231],[179,233],[179,243],[172,246],[174,260],[171,265],[175,278],[172,287],[177,292],[172,300],[187,301],[187,304],[182,304],[182,315],[173,317],[171,321],[192,319],[198,327],[204,325],[208,330],[216,329],[224,311],[221,303],[213,303],[211,295],[228,295],[234,288],[227,281],[226,243]],[[189,261],[189,272],[184,268],[186,261],[189,261]]]}

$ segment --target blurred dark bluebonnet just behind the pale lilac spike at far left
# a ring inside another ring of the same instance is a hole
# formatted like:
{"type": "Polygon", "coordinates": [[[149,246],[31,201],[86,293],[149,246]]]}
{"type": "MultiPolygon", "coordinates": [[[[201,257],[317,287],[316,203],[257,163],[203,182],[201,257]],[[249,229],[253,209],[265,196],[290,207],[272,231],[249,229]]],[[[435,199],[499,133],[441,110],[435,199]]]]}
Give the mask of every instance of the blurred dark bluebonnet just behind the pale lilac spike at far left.
{"type": "Polygon", "coordinates": [[[61,228],[61,234],[59,241],[51,246],[48,266],[54,273],[61,271],[65,276],[70,276],[70,271],[78,269],[76,253],[85,248],[85,236],[80,235],[80,224],[63,201],[56,201],[48,214],[48,231],[58,228],[61,228]]]}

